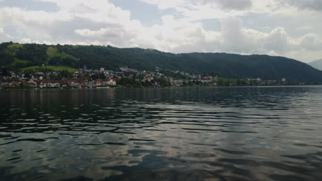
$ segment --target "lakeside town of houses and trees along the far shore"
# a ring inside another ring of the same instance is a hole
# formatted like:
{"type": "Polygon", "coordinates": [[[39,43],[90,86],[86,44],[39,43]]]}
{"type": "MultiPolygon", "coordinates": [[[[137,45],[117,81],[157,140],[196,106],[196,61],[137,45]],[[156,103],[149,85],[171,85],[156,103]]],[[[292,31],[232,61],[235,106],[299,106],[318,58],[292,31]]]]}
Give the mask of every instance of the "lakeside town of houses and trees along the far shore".
{"type": "Polygon", "coordinates": [[[260,78],[228,79],[211,75],[193,75],[182,71],[138,71],[120,67],[118,71],[79,68],[76,72],[52,71],[45,65],[28,72],[10,71],[0,76],[1,88],[103,88],[103,87],[180,87],[180,86],[270,86],[304,83],[260,78]]]}

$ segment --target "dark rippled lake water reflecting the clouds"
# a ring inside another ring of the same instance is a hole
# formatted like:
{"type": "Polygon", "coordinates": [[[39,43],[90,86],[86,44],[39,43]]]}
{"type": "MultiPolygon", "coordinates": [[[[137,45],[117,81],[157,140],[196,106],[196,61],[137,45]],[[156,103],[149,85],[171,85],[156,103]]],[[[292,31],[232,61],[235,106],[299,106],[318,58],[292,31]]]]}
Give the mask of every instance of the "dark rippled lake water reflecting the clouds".
{"type": "Polygon", "coordinates": [[[0,180],[322,180],[322,87],[0,91],[0,180]]]}

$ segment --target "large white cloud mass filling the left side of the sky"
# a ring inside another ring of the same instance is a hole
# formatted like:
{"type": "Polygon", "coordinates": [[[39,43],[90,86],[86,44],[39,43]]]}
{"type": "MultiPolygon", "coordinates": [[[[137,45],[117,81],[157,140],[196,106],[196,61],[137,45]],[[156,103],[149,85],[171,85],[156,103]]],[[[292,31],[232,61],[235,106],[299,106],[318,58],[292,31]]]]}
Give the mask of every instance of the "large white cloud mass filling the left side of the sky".
{"type": "MultiPolygon", "coordinates": [[[[50,40],[53,43],[92,43],[90,38],[83,40],[81,29],[109,29],[109,34],[104,34],[105,40],[114,39],[121,42],[124,40],[115,38],[111,31],[114,29],[124,34],[133,34],[133,29],[142,25],[139,21],[131,20],[131,13],[122,10],[105,0],[97,0],[96,3],[88,0],[37,0],[53,2],[60,8],[57,12],[30,11],[21,8],[0,8],[0,25],[16,26],[23,29],[24,34],[32,40],[50,40]]],[[[87,31],[88,32],[88,31],[87,31]]],[[[117,33],[117,32],[116,32],[117,33]]],[[[121,36],[118,36],[122,38],[121,36]]],[[[102,37],[100,37],[102,38],[102,37]]],[[[105,43],[104,43],[105,44],[105,43]]],[[[115,43],[116,46],[124,46],[115,43]]]]}

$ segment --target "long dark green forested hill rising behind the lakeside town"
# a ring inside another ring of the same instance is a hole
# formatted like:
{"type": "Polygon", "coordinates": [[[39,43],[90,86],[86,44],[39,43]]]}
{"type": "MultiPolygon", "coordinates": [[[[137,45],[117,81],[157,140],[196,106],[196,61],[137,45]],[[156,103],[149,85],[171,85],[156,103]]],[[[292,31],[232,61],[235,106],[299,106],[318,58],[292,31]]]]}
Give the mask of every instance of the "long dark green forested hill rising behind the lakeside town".
{"type": "Polygon", "coordinates": [[[265,80],[281,79],[300,82],[322,82],[322,71],[308,64],[283,57],[265,55],[241,56],[228,53],[164,53],[154,49],[84,45],[37,45],[2,43],[1,69],[21,70],[46,64],[78,69],[117,70],[131,67],[139,70],[186,71],[203,75],[230,78],[260,77],[265,80]]]}

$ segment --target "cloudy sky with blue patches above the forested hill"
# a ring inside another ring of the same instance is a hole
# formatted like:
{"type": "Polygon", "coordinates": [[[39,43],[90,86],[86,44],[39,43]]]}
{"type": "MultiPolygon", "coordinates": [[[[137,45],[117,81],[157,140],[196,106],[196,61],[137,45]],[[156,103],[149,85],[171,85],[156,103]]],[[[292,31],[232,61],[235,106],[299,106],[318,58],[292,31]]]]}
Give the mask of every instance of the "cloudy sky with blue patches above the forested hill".
{"type": "Polygon", "coordinates": [[[322,58],[322,0],[0,0],[0,42],[322,58]]]}

